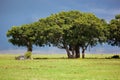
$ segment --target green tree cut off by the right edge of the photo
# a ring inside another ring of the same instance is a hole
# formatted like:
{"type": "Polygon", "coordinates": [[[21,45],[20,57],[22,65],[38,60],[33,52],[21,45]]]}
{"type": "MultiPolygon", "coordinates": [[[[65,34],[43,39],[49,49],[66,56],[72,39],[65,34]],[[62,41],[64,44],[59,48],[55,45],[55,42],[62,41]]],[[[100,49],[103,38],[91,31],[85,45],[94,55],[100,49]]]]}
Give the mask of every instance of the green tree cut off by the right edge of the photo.
{"type": "Polygon", "coordinates": [[[108,25],[109,36],[108,44],[120,47],[120,14],[115,16],[108,25]]]}

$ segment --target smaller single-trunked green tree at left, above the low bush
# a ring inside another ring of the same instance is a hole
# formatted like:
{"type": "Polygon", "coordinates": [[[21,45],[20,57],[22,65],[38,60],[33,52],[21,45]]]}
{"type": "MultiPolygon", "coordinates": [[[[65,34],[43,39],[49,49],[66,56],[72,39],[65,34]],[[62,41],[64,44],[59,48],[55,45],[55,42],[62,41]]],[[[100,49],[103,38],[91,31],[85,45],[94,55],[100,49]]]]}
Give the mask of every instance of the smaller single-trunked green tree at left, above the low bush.
{"type": "Polygon", "coordinates": [[[32,52],[33,45],[45,46],[48,44],[47,30],[41,22],[34,22],[21,26],[13,26],[7,32],[8,41],[13,45],[25,46],[28,52],[32,52]]]}

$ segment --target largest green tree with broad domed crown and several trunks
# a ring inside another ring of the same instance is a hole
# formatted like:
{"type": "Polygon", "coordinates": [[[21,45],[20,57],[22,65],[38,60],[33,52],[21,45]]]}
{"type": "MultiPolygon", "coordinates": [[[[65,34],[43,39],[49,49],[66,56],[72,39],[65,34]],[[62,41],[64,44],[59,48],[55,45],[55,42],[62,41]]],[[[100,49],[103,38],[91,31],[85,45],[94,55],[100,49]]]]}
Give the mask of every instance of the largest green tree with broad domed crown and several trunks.
{"type": "Polygon", "coordinates": [[[91,13],[68,11],[52,14],[39,20],[48,27],[51,44],[64,48],[68,58],[79,58],[80,48],[84,52],[88,46],[95,46],[105,40],[105,22],[91,13]]]}

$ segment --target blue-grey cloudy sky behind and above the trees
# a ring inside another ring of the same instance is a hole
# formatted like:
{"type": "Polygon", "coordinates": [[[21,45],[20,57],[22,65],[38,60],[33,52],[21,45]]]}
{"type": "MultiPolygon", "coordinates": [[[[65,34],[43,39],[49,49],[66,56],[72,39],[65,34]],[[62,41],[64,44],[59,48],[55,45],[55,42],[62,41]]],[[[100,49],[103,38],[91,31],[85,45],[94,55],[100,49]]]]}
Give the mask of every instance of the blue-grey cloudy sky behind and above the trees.
{"type": "MultiPolygon", "coordinates": [[[[120,0],[0,0],[0,53],[3,50],[21,49],[7,41],[6,32],[12,26],[28,24],[50,14],[68,10],[91,12],[109,22],[116,14],[120,14],[120,0]]],[[[106,46],[99,48],[103,50],[106,46]]],[[[111,46],[107,48],[118,50],[111,46]]],[[[56,48],[40,48],[45,52],[49,49],[54,51],[56,48]]],[[[95,50],[97,49],[98,46],[95,50]]]]}

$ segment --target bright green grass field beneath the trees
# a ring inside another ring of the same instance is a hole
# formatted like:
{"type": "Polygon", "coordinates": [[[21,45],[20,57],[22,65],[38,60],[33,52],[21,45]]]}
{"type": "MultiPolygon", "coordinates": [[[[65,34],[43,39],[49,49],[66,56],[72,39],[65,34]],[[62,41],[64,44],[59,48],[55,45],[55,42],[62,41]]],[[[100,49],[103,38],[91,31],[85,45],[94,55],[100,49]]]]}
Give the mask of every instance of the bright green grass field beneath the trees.
{"type": "Polygon", "coordinates": [[[120,80],[120,59],[112,54],[87,54],[87,59],[66,59],[64,54],[34,54],[37,60],[15,60],[0,54],[0,80],[120,80]]]}

